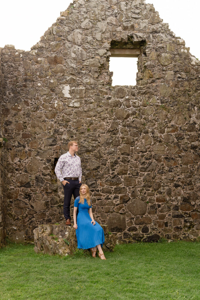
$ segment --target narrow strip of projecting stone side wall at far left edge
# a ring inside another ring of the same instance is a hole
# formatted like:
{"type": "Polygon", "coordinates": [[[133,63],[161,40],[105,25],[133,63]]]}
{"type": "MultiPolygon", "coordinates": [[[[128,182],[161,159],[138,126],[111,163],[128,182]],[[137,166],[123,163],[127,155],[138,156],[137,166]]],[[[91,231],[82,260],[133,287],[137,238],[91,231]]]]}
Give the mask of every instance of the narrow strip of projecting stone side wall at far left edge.
{"type": "Polygon", "coordinates": [[[5,242],[5,218],[6,218],[6,163],[7,151],[2,132],[2,72],[1,72],[1,50],[0,50],[0,247],[5,242]]]}

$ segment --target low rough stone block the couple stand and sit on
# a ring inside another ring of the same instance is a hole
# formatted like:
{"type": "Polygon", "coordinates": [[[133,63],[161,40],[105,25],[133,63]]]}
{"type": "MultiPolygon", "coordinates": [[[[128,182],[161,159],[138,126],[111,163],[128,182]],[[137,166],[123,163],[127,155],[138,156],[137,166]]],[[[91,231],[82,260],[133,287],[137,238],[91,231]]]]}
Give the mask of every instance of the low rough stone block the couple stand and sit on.
{"type": "MultiPolygon", "coordinates": [[[[108,226],[101,225],[104,230],[104,251],[113,251],[117,242],[117,236],[110,234],[108,226]]],[[[65,224],[43,224],[34,229],[34,251],[49,255],[58,254],[67,256],[73,254],[77,248],[76,230],[73,226],[65,224]]]]}

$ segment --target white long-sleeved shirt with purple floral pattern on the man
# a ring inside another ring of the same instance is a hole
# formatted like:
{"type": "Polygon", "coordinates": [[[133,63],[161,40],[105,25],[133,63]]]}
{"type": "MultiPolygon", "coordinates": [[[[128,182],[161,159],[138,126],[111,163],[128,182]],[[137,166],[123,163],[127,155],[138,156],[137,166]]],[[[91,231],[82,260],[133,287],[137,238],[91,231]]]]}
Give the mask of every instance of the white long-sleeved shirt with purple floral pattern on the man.
{"type": "Polygon", "coordinates": [[[82,169],[79,156],[74,154],[73,157],[69,151],[61,155],[55,166],[55,174],[61,182],[65,177],[78,177],[81,181],[82,169]]]}

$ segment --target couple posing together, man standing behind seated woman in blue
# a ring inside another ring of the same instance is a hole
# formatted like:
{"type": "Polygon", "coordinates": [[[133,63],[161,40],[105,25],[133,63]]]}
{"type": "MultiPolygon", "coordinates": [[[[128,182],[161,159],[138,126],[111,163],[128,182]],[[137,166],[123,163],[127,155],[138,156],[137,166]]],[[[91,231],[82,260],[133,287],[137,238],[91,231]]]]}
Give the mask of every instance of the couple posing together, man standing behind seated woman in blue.
{"type": "Polygon", "coordinates": [[[73,227],[76,229],[78,248],[90,248],[93,257],[96,257],[98,249],[99,257],[106,259],[101,248],[104,243],[104,233],[102,227],[94,221],[89,187],[86,184],[81,185],[81,160],[76,155],[78,143],[76,141],[69,142],[68,149],[69,151],[58,159],[55,167],[55,174],[64,188],[63,212],[66,219],[65,224],[71,225],[70,202],[73,194],[75,199],[73,227]]]}

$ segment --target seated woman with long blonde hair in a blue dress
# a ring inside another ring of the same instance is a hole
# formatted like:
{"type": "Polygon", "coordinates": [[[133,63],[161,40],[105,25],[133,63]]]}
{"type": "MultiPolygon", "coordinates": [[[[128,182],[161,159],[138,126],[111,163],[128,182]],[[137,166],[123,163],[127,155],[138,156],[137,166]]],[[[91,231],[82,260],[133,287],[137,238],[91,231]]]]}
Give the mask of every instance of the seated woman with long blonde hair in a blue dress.
{"type": "Polygon", "coordinates": [[[73,211],[73,227],[76,229],[78,248],[90,248],[93,257],[96,257],[98,249],[100,259],[106,259],[101,248],[104,243],[104,232],[103,228],[97,222],[94,221],[89,187],[86,184],[82,184],[80,187],[79,194],[80,196],[77,197],[74,201],[73,211]],[[76,223],[77,208],[79,208],[79,211],[76,223]]]}

